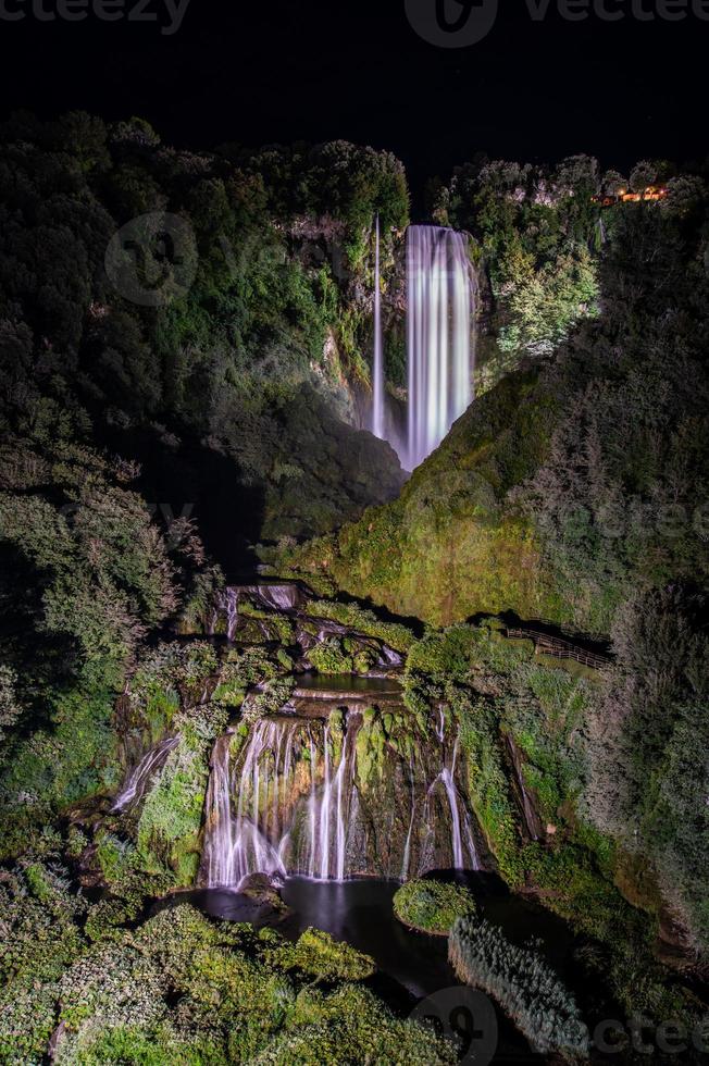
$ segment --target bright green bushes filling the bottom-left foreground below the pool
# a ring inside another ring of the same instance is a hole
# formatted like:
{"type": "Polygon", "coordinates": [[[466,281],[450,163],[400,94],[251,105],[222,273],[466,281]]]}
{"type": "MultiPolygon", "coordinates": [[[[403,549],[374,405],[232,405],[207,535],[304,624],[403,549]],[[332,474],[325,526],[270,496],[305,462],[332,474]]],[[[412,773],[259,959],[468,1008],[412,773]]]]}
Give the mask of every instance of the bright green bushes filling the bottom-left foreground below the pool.
{"type": "Polygon", "coordinates": [[[9,1064],[39,1061],[52,1032],[57,1062],[83,1066],[291,1062],[307,1046],[323,1063],[453,1062],[450,1045],[343,983],[344,971],[369,975],[371,962],[325,934],[308,931],[290,945],[272,930],[211,922],[186,904],[126,929],[117,912],[98,904],[87,921],[97,940],[90,944],[65,910],[71,897],[62,895],[64,909],[50,916],[47,905],[33,910],[22,892],[8,910],[5,892],[0,907],[2,921],[13,924],[13,958],[21,944],[32,953],[29,968],[15,964],[0,992],[0,1056],[9,1064]],[[57,939],[66,927],[71,944],[57,939]],[[313,989],[312,975],[329,990],[313,989]]]}

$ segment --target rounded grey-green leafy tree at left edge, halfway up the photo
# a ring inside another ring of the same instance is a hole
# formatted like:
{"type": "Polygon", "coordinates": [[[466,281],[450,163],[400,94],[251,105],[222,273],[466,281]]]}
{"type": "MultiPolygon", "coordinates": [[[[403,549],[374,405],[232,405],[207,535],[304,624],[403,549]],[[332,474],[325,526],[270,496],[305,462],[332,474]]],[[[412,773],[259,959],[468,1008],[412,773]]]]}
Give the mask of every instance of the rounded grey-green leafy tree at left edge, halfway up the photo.
{"type": "Polygon", "coordinates": [[[97,456],[60,446],[51,458],[59,503],[0,494],[0,538],[45,578],[42,628],[71,635],[87,658],[123,665],[145,627],[174,609],[164,542],[140,497],[112,484],[115,470],[97,456]]]}

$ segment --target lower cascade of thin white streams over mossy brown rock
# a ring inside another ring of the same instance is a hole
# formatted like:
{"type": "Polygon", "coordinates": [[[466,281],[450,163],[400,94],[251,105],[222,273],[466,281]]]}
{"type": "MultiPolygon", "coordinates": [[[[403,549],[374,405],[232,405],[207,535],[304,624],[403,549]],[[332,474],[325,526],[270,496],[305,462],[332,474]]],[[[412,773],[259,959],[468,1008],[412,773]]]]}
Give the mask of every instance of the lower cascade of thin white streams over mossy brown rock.
{"type": "Polygon", "coordinates": [[[223,734],[212,754],[200,882],[478,869],[453,728],[441,726],[427,745],[409,741],[387,742],[376,711],[340,708],[223,734]]]}

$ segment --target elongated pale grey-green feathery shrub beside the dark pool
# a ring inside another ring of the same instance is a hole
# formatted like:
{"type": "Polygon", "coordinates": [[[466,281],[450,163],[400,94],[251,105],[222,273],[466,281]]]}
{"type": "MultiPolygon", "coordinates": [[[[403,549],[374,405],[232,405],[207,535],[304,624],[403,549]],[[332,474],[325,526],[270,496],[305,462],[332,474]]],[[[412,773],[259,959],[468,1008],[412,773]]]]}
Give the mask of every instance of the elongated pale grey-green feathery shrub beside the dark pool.
{"type": "Polygon", "coordinates": [[[518,947],[486,921],[461,918],[448,943],[458,977],[493,995],[540,1054],[585,1061],[588,1030],[572,994],[536,951],[518,947]]]}

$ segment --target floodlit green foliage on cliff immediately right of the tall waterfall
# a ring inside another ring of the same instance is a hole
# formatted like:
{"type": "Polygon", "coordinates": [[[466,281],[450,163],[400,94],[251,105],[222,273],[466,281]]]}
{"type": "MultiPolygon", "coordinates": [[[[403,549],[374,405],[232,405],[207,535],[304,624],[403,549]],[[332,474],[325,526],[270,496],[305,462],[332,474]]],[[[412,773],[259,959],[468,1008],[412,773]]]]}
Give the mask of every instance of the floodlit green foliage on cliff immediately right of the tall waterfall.
{"type": "Polygon", "coordinates": [[[597,313],[599,186],[596,160],[579,156],[553,169],[480,160],[438,190],[447,224],[473,235],[492,296],[497,350],[482,348],[478,395],[597,313]]]}

